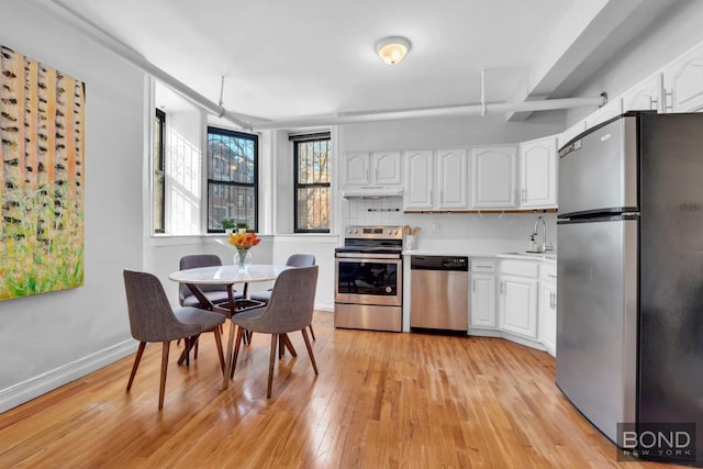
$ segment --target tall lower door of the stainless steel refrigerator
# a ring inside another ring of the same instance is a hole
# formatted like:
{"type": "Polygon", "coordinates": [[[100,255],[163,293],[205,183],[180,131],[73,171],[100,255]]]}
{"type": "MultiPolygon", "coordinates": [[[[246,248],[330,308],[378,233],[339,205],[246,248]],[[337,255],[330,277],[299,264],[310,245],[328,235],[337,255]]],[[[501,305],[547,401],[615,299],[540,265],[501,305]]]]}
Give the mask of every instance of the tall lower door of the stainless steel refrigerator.
{"type": "Polygon", "coordinates": [[[635,422],[637,220],[559,222],[557,386],[611,440],[635,422]]]}

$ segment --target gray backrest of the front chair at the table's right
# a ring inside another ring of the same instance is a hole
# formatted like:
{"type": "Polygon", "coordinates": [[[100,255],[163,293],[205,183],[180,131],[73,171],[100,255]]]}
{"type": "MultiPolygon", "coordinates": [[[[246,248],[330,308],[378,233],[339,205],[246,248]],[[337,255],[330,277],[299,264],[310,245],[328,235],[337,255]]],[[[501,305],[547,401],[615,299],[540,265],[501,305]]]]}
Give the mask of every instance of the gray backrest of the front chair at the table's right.
{"type": "Polygon", "coordinates": [[[317,289],[317,266],[281,272],[274,283],[271,299],[257,321],[259,332],[283,334],[301,331],[312,323],[317,289]]]}

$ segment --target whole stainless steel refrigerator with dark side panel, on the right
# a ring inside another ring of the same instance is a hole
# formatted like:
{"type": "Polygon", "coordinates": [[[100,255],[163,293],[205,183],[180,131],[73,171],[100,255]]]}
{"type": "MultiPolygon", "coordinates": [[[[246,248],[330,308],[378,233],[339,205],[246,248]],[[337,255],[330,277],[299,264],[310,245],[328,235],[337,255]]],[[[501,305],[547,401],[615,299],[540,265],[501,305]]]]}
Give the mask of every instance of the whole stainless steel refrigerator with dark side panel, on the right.
{"type": "Polygon", "coordinates": [[[696,424],[700,464],[703,114],[627,113],[562,147],[557,239],[557,386],[614,443],[696,424]]]}

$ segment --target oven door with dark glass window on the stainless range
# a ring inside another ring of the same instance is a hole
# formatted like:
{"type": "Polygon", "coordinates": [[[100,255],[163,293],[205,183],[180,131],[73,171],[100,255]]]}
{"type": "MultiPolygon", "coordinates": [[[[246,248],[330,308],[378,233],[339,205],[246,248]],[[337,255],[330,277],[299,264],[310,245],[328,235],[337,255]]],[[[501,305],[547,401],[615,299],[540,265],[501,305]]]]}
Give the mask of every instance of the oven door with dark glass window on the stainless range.
{"type": "Polygon", "coordinates": [[[403,260],[337,256],[335,303],[400,306],[403,301],[403,260]]]}

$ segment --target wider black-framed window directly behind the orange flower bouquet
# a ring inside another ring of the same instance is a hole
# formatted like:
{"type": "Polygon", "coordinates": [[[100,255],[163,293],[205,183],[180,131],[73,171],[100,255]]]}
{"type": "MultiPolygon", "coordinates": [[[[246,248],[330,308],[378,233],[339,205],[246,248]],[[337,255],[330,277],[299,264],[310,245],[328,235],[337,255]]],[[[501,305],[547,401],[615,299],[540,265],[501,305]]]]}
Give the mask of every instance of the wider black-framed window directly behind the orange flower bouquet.
{"type": "Polygon", "coordinates": [[[257,231],[258,147],[257,135],[208,127],[208,233],[224,219],[257,231]]]}

